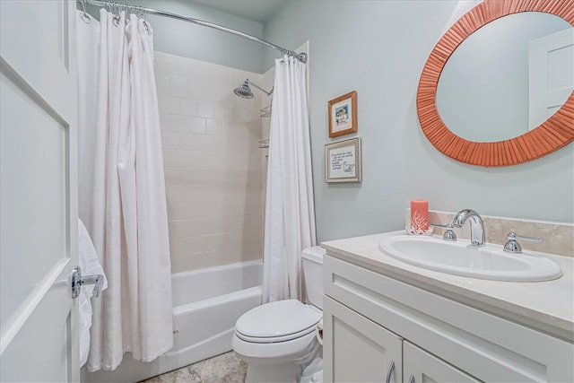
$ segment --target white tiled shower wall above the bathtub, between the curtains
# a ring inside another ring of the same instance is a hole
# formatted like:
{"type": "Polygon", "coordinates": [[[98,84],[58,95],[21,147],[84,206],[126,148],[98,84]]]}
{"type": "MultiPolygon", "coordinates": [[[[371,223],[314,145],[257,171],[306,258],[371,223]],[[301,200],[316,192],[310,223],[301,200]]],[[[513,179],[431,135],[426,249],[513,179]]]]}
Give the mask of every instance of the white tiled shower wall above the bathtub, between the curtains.
{"type": "Polygon", "coordinates": [[[251,100],[233,89],[246,78],[260,84],[263,75],[162,53],[155,75],[172,273],[260,259],[266,151],[258,149],[259,109],[267,101],[256,89],[251,100]]]}

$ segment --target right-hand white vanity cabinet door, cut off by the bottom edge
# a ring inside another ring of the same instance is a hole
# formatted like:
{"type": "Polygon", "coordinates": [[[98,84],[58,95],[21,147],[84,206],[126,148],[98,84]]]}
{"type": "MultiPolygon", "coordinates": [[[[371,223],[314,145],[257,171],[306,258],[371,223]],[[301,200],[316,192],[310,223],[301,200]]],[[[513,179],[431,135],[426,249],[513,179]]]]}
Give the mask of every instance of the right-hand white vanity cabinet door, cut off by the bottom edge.
{"type": "Polygon", "coordinates": [[[405,383],[480,382],[407,341],[403,342],[403,367],[405,383]]]}

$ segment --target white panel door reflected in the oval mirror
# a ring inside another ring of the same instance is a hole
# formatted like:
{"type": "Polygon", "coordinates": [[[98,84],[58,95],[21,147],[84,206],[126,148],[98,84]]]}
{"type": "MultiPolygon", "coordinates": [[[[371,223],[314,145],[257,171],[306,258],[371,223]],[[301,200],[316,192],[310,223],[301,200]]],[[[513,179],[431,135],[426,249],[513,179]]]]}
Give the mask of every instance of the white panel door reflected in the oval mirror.
{"type": "Polygon", "coordinates": [[[528,130],[551,117],[574,90],[574,28],[528,44],[528,130]]]}

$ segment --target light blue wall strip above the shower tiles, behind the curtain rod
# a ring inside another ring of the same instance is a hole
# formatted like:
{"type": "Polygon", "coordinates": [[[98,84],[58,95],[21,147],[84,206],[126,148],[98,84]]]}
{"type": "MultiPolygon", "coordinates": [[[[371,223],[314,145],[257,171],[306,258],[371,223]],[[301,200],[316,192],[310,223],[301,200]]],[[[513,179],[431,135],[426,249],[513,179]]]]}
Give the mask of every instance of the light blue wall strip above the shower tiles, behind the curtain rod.
{"type": "MultiPolygon", "coordinates": [[[[215,10],[202,4],[181,0],[122,0],[159,11],[178,13],[204,22],[213,22],[261,38],[263,24],[215,10]]],[[[96,7],[90,13],[96,15],[96,7]]],[[[263,49],[260,44],[189,22],[146,15],[154,30],[154,48],[163,53],[194,58],[208,63],[263,73],[263,49]]]]}

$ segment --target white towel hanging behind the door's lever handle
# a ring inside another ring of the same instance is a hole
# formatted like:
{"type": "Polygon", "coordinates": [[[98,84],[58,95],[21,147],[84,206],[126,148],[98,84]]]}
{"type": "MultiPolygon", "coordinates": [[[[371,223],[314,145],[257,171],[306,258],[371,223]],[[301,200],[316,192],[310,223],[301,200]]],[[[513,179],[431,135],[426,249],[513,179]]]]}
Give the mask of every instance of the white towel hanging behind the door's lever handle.
{"type": "MultiPolygon", "coordinates": [[[[104,282],[101,285],[100,292],[108,288],[108,280],[104,274],[104,269],[100,265],[98,253],[91,243],[90,234],[83,225],[82,220],[78,219],[78,261],[82,268],[83,275],[101,274],[104,276],[104,282]]],[[[90,353],[90,327],[91,327],[91,296],[93,293],[92,286],[84,286],[80,292],[80,367],[88,360],[90,353]]]]}

